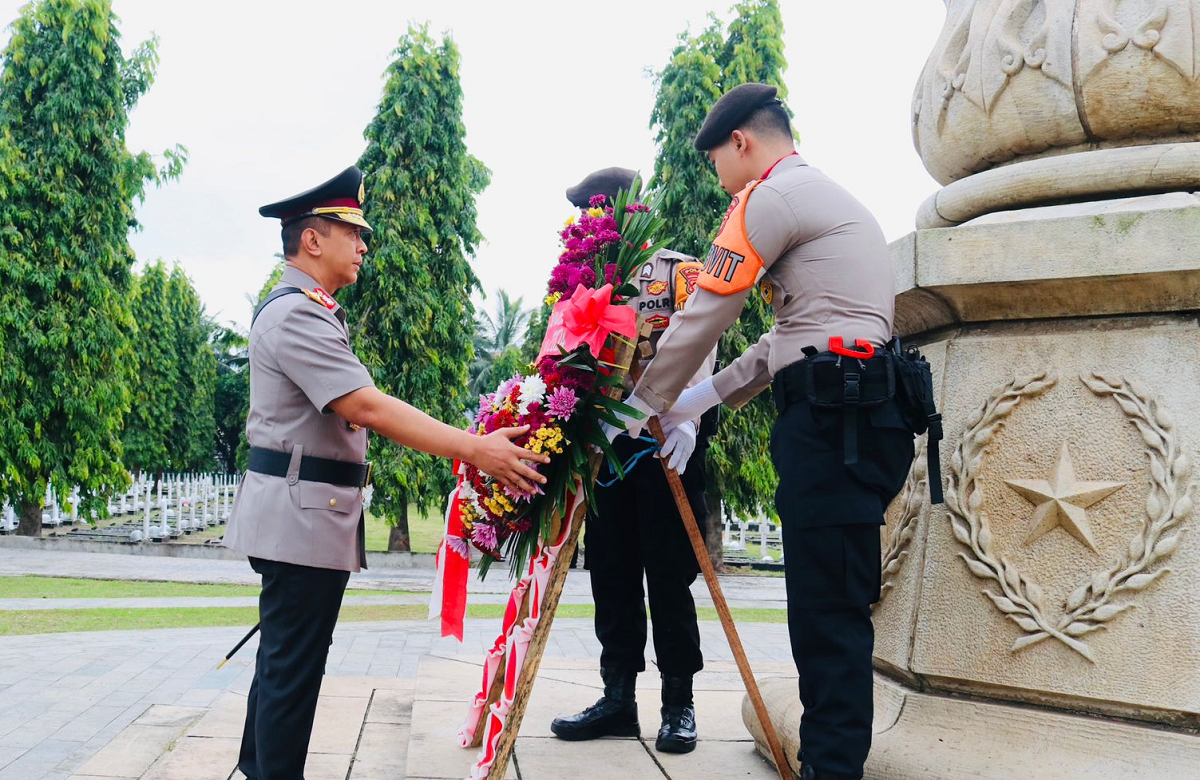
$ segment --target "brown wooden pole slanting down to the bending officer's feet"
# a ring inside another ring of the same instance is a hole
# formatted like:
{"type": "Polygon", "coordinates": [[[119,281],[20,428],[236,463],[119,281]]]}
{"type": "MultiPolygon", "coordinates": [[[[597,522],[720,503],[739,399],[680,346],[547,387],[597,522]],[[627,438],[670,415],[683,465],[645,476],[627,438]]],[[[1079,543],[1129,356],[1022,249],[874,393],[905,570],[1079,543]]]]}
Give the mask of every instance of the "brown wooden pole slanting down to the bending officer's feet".
{"type": "MultiPolygon", "coordinates": [[[[641,366],[635,360],[630,367],[630,376],[634,378],[635,384],[642,378],[641,374],[641,366]]],[[[659,422],[658,418],[650,418],[647,427],[650,430],[650,434],[658,439],[660,446],[666,444],[662,424],[659,422]]],[[[671,494],[674,496],[676,505],[679,508],[679,516],[683,517],[683,527],[688,532],[688,540],[691,541],[691,550],[696,553],[696,562],[700,564],[700,570],[704,572],[708,593],[713,598],[713,606],[716,607],[716,617],[721,620],[721,628],[725,629],[725,638],[728,640],[730,649],[733,650],[733,659],[738,662],[742,682],[745,683],[746,694],[750,696],[754,710],[758,715],[758,722],[762,724],[762,731],[767,736],[767,746],[770,748],[770,755],[775,761],[775,770],[779,773],[780,780],[793,780],[792,767],[787,762],[787,756],[784,755],[784,745],[779,742],[779,734],[775,733],[775,724],[770,721],[770,715],[767,713],[767,704],[762,701],[762,694],[758,692],[758,683],[750,670],[750,659],[746,658],[745,648],[742,647],[742,638],[738,636],[738,629],[733,624],[733,616],[730,613],[730,605],[725,601],[725,594],[721,592],[721,582],[716,578],[716,570],[713,569],[712,558],[708,557],[704,536],[700,533],[696,515],[691,511],[691,502],[688,500],[688,492],[683,488],[683,480],[679,479],[679,474],[673,468],[667,466],[666,458],[659,458],[659,462],[662,463],[662,470],[667,476],[667,485],[671,486],[671,494]]]]}

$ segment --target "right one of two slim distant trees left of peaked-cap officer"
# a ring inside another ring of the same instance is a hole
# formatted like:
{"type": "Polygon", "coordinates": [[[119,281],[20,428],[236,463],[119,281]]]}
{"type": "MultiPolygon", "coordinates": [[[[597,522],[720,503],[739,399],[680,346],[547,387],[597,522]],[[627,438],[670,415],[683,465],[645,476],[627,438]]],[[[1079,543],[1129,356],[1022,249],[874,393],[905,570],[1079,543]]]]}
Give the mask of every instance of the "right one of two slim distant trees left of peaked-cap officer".
{"type": "Polygon", "coordinates": [[[167,295],[174,312],[172,335],[179,358],[172,467],[176,472],[210,472],[216,466],[217,444],[217,359],[209,346],[212,324],[182,269],[172,271],[167,295]]]}

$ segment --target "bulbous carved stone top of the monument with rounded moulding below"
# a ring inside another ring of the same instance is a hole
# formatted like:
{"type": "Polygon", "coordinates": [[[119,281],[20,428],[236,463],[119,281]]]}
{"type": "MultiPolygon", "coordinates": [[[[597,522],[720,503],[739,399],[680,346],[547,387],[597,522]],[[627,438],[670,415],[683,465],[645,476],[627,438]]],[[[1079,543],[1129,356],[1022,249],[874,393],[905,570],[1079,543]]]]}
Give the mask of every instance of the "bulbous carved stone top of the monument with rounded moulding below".
{"type": "Polygon", "coordinates": [[[1200,185],[1194,164],[1190,172],[1183,161],[1169,160],[1165,172],[1154,167],[1158,157],[1188,156],[1177,146],[1200,138],[1200,0],[946,6],[944,28],[913,95],[913,143],[943,185],[986,170],[1007,174],[997,192],[990,192],[997,190],[994,179],[970,192],[948,186],[922,208],[920,227],[1061,199],[1200,185]],[[1096,156],[1129,146],[1157,154],[1096,156]],[[1028,167],[1046,157],[1080,175],[1048,178],[1028,167]]]}

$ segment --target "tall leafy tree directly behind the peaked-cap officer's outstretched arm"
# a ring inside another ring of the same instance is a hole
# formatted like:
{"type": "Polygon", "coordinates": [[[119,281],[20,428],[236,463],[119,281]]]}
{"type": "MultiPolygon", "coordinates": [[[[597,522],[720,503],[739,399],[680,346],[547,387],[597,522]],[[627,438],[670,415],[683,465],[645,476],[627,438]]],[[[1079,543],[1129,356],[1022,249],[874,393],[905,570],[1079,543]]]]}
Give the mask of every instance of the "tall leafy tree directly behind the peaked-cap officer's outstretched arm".
{"type": "MultiPolygon", "coordinates": [[[[427,25],[401,36],[359,161],[371,252],[340,293],[377,385],[450,424],[462,421],[472,361],[475,194],[491,178],[467,151],[458,61],[454,41],[434,41],[427,25]]],[[[450,463],[379,436],[371,457],[371,510],[392,526],[388,548],[408,550],[408,508],[440,508],[450,463]]]]}

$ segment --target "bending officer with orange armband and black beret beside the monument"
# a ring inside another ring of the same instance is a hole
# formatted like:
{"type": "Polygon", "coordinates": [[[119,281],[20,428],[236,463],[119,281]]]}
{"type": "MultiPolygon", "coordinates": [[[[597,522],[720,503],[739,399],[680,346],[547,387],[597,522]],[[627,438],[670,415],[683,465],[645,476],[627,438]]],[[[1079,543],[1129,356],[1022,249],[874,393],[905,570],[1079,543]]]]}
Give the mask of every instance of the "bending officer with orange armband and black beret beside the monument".
{"type": "MultiPolygon", "coordinates": [[[[696,136],[736,194],[696,294],[630,403],[670,431],[774,383],[772,460],[804,703],[803,778],[853,780],[871,739],[880,526],[912,461],[912,433],[880,390],[894,299],[883,234],[858,200],[797,156],[775,92],[730,90],[696,136]],[[712,380],[684,390],[752,294],[770,302],[775,325],[712,380]]],[[[641,425],[631,421],[630,433],[641,425]]]]}

